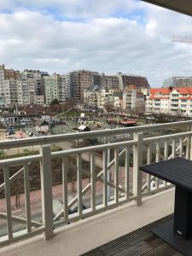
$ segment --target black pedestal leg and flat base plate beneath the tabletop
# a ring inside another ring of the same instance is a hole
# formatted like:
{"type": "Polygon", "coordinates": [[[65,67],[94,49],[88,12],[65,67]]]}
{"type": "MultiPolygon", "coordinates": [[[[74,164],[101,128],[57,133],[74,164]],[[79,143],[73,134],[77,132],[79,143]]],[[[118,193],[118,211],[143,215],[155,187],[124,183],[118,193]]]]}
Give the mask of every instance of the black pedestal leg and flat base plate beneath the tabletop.
{"type": "Polygon", "coordinates": [[[192,194],[176,187],[174,218],[158,224],[151,231],[178,252],[192,256],[192,194]]]}

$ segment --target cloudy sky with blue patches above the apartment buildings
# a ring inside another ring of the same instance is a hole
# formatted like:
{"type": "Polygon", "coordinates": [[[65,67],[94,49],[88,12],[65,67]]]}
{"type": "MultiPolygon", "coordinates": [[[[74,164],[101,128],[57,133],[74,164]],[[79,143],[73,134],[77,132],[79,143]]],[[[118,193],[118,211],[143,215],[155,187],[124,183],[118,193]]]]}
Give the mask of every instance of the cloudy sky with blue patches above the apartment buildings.
{"type": "Polygon", "coordinates": [[[137,0],[0,0],[0,63],[67,73],[192,76],[192,17],[137,0]]]}

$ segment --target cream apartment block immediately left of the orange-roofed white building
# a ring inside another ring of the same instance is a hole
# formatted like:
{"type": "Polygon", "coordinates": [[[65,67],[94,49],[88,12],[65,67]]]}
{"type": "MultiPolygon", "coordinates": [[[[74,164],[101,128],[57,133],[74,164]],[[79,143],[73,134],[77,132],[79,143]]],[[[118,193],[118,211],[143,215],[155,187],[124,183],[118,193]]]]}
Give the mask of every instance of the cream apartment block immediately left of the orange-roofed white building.
{"type": "Polygon", "coordinates": [[[123,108],[131,109],[137,112],[144,112],[145,97],[141,90],[124,90],[123,93],[123,108]]]}

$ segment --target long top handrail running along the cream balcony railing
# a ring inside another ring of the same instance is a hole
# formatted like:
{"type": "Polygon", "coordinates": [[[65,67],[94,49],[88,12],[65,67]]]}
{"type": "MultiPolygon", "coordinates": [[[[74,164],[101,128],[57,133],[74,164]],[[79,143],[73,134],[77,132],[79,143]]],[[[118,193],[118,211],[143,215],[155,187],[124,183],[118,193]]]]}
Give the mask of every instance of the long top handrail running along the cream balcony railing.
{"type": "Polygon", "coordinates": [[[17,147],[25,147],[25,146],[34,146],[41,144],[49,144],[49,143],[61,143],[61,141],[70,141],[70,140],[78,140],[83,138],[90,137],[108,137],[113,135],[139,132],[139,131],[153,131],[153,130],[163,130],[166,127],[178,127],[183,125],[192,125],[192,120],[182,121],[182,122],[174,122],[174,123],[166,123],[159,125],[142,125],[142,126],[134,126],[128,128],[118,128],[118,129],[107,129],[101,131],[85,131],[85,132],[76,132],[69,134],[61,134],[61,135],[50,135],[44,137],[30,137],[30,138],[20,138],[13,141],[1,141],[0,149],[5,148],[17,148],[17,147]]]}

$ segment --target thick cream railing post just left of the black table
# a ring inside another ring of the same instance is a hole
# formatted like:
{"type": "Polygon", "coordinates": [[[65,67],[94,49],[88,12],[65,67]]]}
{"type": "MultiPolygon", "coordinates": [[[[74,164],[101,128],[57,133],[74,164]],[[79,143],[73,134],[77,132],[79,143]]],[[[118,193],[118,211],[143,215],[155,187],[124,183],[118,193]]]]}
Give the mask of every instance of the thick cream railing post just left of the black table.
{"type": "Polygon", "coordinates": [[[139,167],[143,164],[143,133],[134,133],[137,144],[133,147],[133,194],[137,195],[137,206],[142,204],[142,172],[139,167]]]}

